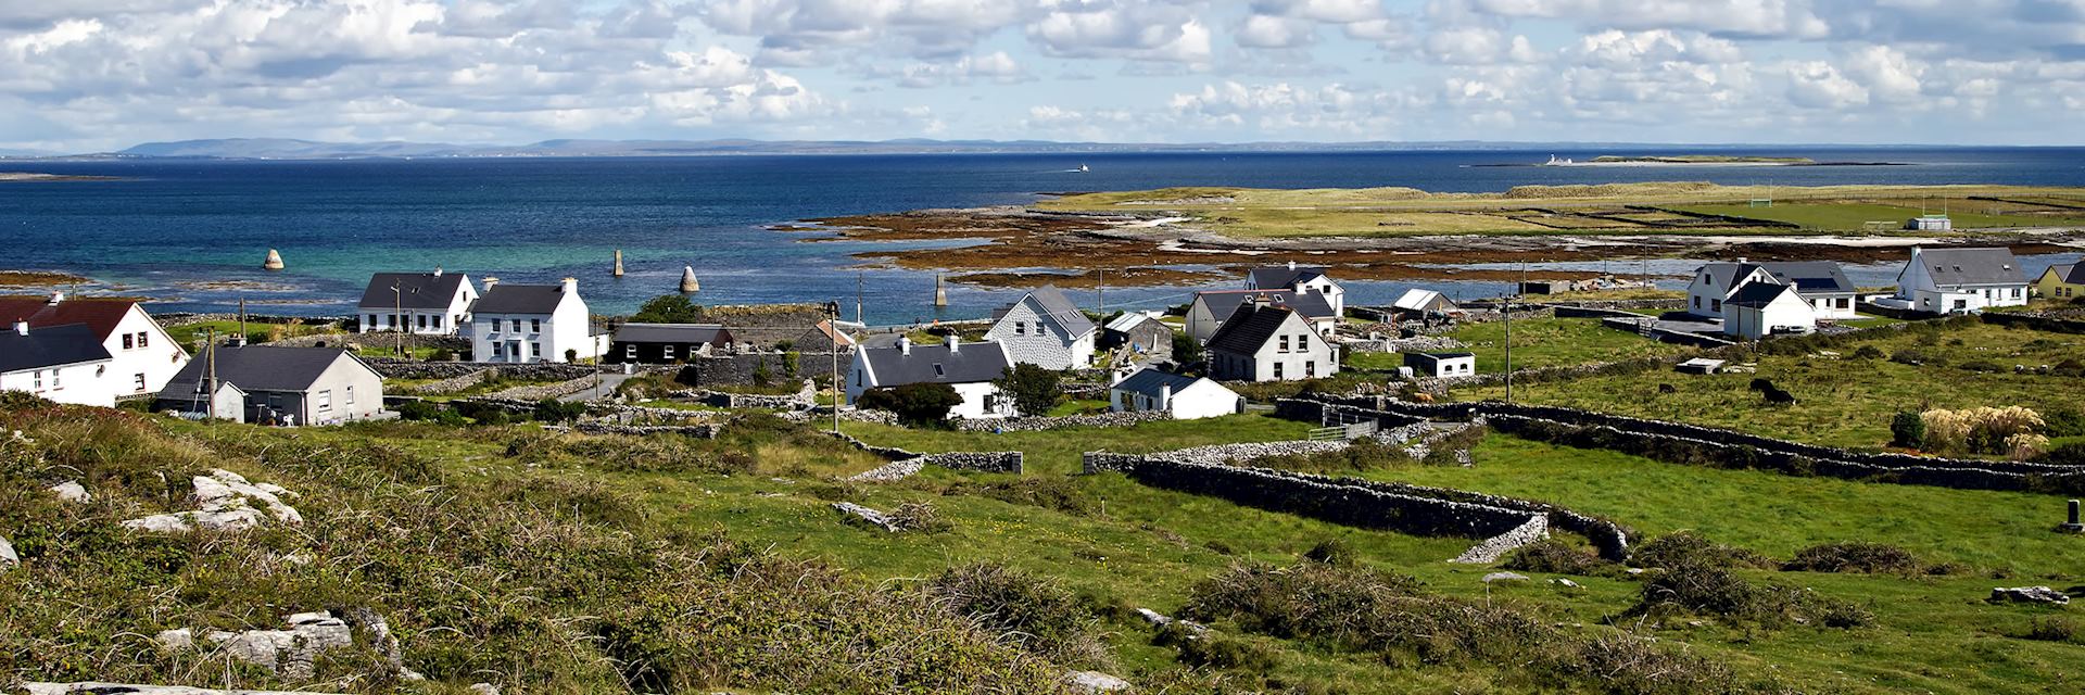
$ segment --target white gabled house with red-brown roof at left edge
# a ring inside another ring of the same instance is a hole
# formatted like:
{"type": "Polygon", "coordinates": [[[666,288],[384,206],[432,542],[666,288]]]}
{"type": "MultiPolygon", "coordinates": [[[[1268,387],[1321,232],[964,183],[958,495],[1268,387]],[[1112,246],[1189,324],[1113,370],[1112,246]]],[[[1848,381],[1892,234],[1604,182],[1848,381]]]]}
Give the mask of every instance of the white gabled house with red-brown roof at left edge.
{"type": "Polygon", "coordinates": [[[154,394],[181,365],[188,351],[173,342],[133,298],[0,296],[0,326],[29,328],[81,323],[108,351],[108,388],[121,397],[154,394]]]}

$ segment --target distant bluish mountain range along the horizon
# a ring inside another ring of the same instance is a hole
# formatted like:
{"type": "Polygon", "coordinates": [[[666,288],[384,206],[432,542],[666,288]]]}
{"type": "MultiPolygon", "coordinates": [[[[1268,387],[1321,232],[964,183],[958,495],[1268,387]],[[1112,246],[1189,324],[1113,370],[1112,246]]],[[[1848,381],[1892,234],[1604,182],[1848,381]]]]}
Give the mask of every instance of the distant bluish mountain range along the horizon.
{"type": "MultiPolygon", "coordinates": [[[[1649,144],[1649,142],[1049,142],[1049,140],[544,140],[534,144],[315,142],[223,138],[146,142],[117,152],[63,159],[448,159],[448,157],[719,157],[719,154],[1003,154],[1003,152],[1370,152],[1370,150],[1660,150],[1770,148],[1797,144],[1649,144]]],[[[27,154],[27,152],[25,152],[27,154]]]]}

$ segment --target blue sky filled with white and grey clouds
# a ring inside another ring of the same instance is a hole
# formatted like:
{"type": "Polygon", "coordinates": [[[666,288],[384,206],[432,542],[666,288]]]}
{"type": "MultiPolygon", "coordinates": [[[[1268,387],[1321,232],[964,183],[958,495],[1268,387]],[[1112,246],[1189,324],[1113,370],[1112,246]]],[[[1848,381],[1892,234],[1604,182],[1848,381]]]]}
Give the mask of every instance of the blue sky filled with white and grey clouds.
{"type": "Polygon", "coordinates": [[[0,150],[2085,144],[2085,0],[0,0],[0,150]]]}

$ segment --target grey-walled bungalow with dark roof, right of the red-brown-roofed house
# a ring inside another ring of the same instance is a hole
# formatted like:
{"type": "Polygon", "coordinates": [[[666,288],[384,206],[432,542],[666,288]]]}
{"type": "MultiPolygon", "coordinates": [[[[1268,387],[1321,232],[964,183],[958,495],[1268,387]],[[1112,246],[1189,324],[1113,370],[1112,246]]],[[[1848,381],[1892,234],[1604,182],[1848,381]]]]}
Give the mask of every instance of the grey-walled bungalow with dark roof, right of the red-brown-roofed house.
{"type": "MultiPolygon", "coordinates": [[[[158,392],[158,407],[204,413],[211,359],[190,361],[158,392]]],[[[217,417],[256,424],[342,424],[384,411],[384,376],[354,353],[294,346],[219,346],[217,417]]]]}

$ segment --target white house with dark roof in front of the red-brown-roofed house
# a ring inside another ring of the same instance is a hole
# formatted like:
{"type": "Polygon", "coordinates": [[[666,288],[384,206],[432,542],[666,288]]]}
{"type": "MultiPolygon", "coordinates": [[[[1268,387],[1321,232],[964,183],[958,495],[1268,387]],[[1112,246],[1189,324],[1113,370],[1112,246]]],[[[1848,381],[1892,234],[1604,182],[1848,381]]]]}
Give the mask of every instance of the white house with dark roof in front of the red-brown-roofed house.
{"type": "Polygon", "coordinates": [[[31,328],[17,319],[0,334],[0,390],[52,403],[117,405],[115,359],[85,323],[31,328]]]}

